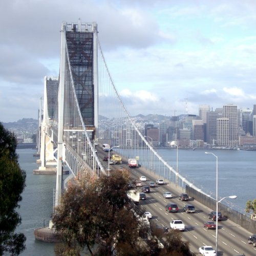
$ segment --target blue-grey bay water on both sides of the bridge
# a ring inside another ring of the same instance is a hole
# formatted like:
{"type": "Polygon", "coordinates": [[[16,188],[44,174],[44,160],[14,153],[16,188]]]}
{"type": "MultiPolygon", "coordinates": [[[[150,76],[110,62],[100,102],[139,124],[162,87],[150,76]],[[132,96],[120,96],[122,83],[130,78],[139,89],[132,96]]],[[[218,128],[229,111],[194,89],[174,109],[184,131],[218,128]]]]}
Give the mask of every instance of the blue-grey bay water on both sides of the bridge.
{"type": "MultiPolygon", "coordinates": [[[[256,198],[256,151],[233,150],[178,150],[178,170],[188,181],[215,198],[216,157],[205,154],[212,152],[218,156],[218,195],[237,195],[233,204],[244,211],[246,202],[256,198]]],[[[177,151],[160,148],[160,156],[176,169],[177,151]]],[[[23,200],[17,209],[22,216],[22,224],[16,229],[27,237],[26,250],[21,255],[54,255],[54,244],[35,240],[34,229],[49,225],[53,210],[53,190],[56,176],[34,175],[37,169],[36,150],[20,149],[19,164],[26,171],[26,187],[23,200]]]]}

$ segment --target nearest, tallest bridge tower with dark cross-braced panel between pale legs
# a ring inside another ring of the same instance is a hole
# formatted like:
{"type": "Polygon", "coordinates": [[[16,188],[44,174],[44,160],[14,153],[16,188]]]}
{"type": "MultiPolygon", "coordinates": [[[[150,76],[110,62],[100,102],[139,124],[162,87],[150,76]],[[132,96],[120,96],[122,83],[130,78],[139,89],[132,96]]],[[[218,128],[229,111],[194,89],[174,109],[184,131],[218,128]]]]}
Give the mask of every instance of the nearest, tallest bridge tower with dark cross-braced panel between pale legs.
{"type": "Polygon", "coordinates": [[[96,23],[81,23],[80,19],[78,23],[63,22],[61,26],[55,206],[60,202],[63,187],[62,165],[66,150],[63,132],[81,132],[77,119],[83,120],[92,138],[98,127],[97,33],[96,23]],[[77,98],[80,116],[74,115],[69,106],[71,93],[77,98]]]}

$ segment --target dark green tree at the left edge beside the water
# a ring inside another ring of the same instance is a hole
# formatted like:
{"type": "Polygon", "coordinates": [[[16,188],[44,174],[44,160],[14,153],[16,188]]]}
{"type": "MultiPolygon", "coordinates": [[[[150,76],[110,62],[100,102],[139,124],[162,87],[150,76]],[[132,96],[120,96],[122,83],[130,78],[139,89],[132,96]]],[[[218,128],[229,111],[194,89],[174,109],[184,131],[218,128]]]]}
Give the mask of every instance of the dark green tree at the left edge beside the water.
{"type": "Polygon", "coordinates": [[[26,237],[15,233],[22,219],[15,211],[25,188],[26,173],[18,164],[17,141],[0,123],[0,255],[18,255],[25,249],[26,237]]]}

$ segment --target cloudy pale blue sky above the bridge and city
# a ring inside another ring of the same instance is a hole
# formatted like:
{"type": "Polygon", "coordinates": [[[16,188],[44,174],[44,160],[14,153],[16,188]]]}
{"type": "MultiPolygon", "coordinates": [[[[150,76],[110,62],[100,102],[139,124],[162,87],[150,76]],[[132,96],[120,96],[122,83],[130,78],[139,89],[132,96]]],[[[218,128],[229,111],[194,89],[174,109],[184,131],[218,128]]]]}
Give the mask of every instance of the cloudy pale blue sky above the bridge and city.
{"type": "Polygon", "coordinates": [[[96,22],[132,116],[256,104],[256,0],[1,0],[0,121],[38,116],[63,21],[96,22]]]}

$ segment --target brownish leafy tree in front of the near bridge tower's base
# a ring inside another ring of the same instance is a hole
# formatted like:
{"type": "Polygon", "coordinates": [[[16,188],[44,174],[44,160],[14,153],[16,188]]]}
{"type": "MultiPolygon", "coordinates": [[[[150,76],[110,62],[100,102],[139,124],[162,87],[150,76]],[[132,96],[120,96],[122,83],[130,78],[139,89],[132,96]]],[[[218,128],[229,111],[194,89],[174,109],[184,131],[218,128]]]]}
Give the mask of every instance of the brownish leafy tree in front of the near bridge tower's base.
{"type": "Polygon", "coordinates": [[[145,228],[139,222],[142,212],[127,197],[129,182],[129,172],[123,170],[71,184],[52,219],[65,242],[55,252],[79,255],[86,247],[91,255],[148,255],[139,237],[145,228]]]}

